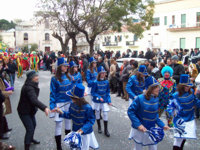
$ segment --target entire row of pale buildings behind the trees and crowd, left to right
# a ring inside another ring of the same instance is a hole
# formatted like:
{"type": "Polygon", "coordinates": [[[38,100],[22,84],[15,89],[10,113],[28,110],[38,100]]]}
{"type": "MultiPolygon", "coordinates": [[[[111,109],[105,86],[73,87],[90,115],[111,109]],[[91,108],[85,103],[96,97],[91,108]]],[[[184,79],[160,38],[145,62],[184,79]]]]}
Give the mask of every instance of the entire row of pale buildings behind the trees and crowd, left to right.
{"type": "MultiPolygon", "coordinates": [[[[35,43],[40,51],[60,51],[60,43],[52,36],[53,31],[49,26],[48,21],[38,24],[32,20],[18,24],[15,31],[0,34],[5,43],[17,50],[35,43]]],[[[62,36],[65,37],[63,31],[62,36]]],[[[147,48],[200,48],[200,1],[166,0],[156,3],[153,26],[143,33],[142,39],[122,26],[121,32],[107,31],[100,34],[94,44],[94,50],[103,51],[146,51],[147,48]]],[[[88,42],[82,33],[77,35],[77,49],[78,52],[89,53],[88,42]]]]}

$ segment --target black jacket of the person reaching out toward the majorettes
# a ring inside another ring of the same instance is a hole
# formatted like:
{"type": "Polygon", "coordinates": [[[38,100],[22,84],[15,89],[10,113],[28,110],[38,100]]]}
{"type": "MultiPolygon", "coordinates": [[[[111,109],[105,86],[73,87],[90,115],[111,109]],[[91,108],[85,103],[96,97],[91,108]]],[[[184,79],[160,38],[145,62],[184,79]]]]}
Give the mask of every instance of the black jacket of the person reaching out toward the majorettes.
{"type": "Polygon", "coordinates": [[[26,80],[21,89],[20,100],[17,107],[19,114],[35,115],[38,108],[42,111],[45,110],[47,106],[38,100],[39,92],[38,83],[26,80]]]}

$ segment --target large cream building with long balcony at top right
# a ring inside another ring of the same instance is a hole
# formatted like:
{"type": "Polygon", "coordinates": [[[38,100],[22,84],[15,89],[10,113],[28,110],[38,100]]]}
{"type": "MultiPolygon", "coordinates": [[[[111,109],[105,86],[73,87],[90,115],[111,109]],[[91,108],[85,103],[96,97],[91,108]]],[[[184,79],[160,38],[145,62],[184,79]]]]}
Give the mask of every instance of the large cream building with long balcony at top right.
{"type": "Polygon", "coordinates": [[[153,26],[143,41],[151,48],[200,48],[200,1],[168,0],[155,5],[153,26]]]}

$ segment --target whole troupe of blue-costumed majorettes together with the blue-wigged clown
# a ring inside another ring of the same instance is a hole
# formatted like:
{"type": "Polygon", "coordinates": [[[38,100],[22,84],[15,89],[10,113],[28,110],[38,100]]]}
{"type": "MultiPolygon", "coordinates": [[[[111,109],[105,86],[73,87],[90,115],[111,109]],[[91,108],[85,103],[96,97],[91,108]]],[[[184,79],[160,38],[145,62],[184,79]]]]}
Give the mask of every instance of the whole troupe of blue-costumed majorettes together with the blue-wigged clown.
{"type": "MultiPolygon", "coordinates": [[[[104,134],[110,137],[108,112],[112,103],[109,81],[103,66],[96,67],[94,57],[89,59],[89,63],[85,88],[78,65],[74,61],[67,63],[63,57],[57,60],[57,70],[50,83],[50,117],[55,120],[57,150],[62,150],[63,122],[65,135],[72,132],[81,135],[81,150],[99,148],[93,125],[96,120],[101,134],[101,113],[104,134]],[[90,96],[90,102],[85,100],[86,95],[90,96]]],[[[157,144],[164,137],[163,130],[174,131],[173,150],[182,150],[186,139],[196,139],[194,109],[200,107],[200,100],[195,96],[189,75],[182,74],[176,85],[171,67],[164,67],[161,73],[163,78],[157,81],[147,73],[145,65],[140,65],[127,83],[130,98],[127,114],[131,121],[129,139],[134,141],[134,150],[142,150],[144,146],[157,150],[157,144]],[[166,125],[159,118],[164,111],[168,120],[166,125]]]]}

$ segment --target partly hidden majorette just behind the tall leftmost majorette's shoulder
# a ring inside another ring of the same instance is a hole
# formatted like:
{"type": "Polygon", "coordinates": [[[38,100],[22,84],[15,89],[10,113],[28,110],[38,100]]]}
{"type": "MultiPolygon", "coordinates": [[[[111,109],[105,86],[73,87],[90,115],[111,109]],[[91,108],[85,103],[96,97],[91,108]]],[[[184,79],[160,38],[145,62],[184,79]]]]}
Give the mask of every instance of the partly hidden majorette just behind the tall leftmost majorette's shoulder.
{"type": "Polygon", "coordinates": [[[80,72],[78,72],[78,65],[74,61],[71,61],[69,63],[69,66],[70,66],[69,76],[71,78],[73,85],[82,83],[82,76],[81,76],[80,72]]]}

